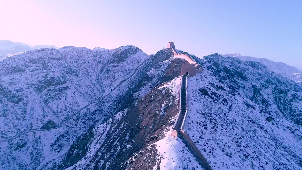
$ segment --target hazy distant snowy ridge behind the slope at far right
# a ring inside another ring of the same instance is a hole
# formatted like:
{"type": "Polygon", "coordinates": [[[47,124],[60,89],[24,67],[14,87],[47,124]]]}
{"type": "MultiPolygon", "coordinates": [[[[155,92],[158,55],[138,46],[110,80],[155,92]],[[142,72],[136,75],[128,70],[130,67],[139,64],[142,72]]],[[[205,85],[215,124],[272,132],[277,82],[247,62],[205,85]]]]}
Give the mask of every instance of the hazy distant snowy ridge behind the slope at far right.
{"type": "Polygon", "coordinates": [[[265,67],[268,67],[268,69],[272,70],[273,72],[280,74],[280,75],[288,78],[289,80],[294,80],[295,82],[302,84],[302,77],[301,77],[302,72],[294,66],[289,66],[285,63],[275,62],[275,61],[271,61],[271,60],[268,60],[265,58],[241,56],[240,54],[237,54],[237,53],[224,54],[224,55],[219,54],[219,55],[221,55],[223,57],[237,57],[237,58],[240,58],[240,59],[246,60],[246,61],[257,61],[257,62],[265,65],[265,67]]]}

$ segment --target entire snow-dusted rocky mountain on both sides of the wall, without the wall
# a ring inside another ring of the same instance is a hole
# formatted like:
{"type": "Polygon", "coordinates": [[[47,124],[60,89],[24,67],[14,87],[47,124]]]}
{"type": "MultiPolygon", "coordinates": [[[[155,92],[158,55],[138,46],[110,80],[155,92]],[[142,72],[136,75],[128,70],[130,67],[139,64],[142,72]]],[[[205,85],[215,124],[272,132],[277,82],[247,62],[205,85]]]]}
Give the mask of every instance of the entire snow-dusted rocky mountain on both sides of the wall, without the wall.
{"type": "MultiPolygon", "coordinates": [[[[173,56],[65,46],[0,59],[0,168],[201,169],[171,136],[188,63],[173,56]]],[[[191,56],[204,71],[188,79],[186,130],[210,166],[301,169],[302,87],[254,61],[191,56]]]]}

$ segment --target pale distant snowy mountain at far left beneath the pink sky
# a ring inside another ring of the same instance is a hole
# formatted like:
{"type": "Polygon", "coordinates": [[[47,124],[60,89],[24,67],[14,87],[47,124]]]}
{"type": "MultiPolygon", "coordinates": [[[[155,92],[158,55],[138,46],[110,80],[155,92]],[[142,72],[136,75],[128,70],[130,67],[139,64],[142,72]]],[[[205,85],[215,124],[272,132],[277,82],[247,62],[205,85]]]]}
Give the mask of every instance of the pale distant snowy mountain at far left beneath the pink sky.
{"type": "Polygon", "coordinates": [[[39,48],[56,48],[53,45],[28,45],[21,42],[0,40],[0,55],[14,54],[39,48]]]}

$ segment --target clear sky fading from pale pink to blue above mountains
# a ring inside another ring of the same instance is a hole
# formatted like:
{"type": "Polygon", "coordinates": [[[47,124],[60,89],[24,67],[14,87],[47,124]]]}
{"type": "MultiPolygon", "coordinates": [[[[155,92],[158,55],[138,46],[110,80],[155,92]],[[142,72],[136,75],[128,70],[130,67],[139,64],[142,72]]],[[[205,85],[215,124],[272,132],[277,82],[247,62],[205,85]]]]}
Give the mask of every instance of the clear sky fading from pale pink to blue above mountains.
{"type": "Polygon", "coordinates": [[[239,53],[302,69],[302,1],[0,1],[0,40],[197,57],[239,53]]]}

